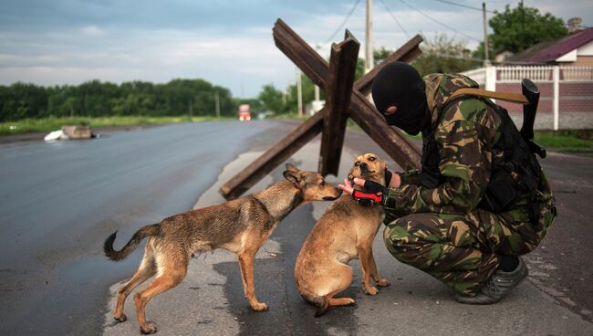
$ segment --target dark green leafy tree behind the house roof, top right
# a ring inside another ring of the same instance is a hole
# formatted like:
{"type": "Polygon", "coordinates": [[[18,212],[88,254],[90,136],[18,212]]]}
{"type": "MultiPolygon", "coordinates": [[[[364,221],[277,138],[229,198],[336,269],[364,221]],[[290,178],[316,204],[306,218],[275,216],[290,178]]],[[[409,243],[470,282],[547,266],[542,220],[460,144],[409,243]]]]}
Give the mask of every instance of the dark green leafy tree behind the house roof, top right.
{"type": "Polygon", "coordinates": [[[537,8],[525,7],[521,3],[513,9],[506,5],[505,12],[494,11],[488,23],[494,30],[489,36],[494,50],[508,49],[514,53],[568,34],[561,18],[550,13],[542,15],[537,8]]]}

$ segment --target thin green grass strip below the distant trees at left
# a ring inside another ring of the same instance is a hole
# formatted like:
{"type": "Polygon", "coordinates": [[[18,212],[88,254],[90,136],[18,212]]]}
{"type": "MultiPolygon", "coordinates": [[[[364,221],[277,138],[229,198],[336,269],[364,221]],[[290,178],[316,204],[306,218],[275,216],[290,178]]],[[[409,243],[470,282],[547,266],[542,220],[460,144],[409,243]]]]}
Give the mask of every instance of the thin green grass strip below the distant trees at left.
{"type": "Polygon", "coordinates": [[[0,123],[0,135],[12,135],[30,131],[57,131],[63,125],[88,125],[90,128],[133,126],[161,123],[201,122],[229,120],[229,118],[214,117],[99,117],[99,118],[44,118],[25,119],[0,123]]]}

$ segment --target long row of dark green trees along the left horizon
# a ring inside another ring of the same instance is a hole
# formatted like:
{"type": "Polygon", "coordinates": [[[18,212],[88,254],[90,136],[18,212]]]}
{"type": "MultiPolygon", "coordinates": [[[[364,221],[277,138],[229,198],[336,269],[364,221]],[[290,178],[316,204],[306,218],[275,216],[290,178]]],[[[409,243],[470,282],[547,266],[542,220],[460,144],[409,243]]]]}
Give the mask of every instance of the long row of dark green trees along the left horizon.
{"type": "Polygon", "coordinates": [[[236,114],[242,103],[231,91],[203,79],[173,79],[165,84],[130,81],[120,85],[91,80],[78,86],[0,85],[0,122],[47,117],[214,116],[236,114]]]}

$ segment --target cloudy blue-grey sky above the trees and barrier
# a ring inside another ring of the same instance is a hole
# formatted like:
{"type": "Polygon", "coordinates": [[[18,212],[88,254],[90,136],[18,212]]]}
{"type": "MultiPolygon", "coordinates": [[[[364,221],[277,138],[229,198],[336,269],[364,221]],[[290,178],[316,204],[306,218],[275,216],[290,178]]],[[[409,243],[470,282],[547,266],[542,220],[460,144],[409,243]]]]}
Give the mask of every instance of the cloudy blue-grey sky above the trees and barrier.
{"type": "MultiPolygon", "coordinates": [[[[397,48],[422,33],[446,33],[471,49],[483,39],[482,13],[437,0],[374,0],[374,47],[397,48]],[[408,4],[408,5],[406,5],[408,4]],[[431,16],[446,26],[441,26],[431,16]],[[402,31],[391,14],[397,18],[402,31]]],[[[482,1],[450,2],[481,7],[482,1]]],[[[489,10],[519,1],[486,1],[489,10]]],[[[276,48],[272,26],[280,17],[327,57],[328,39],[357,0],[0,0],[0,84],[79,84],[90,79],[155,83],[206,79],[255,97],[262,85],[285,88],[295,67],[276,48]]],[[[593,26],[593,2],[525,1],[565,21],[581,16],[593,26]]],[[[492,16],[492,14],[488,14],[492,16]]],[[[347,28],[364,51],[365,0],[347,28]]],[[[338,42],[343,29],[334,38],[338,42]]]]}

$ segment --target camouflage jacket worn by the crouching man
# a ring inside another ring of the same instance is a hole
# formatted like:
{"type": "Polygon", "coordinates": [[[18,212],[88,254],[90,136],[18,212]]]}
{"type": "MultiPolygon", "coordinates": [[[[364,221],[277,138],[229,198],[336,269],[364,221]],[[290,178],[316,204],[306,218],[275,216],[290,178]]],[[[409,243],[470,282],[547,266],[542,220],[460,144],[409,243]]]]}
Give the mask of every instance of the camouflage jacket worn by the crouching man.
{"type": "MultiPolygon", "coordinates": [[[[419,171],[401,173],[401,187],[391,189],[386,200],[386,220],[411,213],[471,212],[482,200],[493,160],[502,160],[503,152],[497,158],[492,152],[501,136],[502,120],[483,100],[456,100],[442,110],[455,89],[477,88],[478,84],[463,75],[450,74],[428,75],[424,81],[434,130],[431,134],[440,144],[442,183],[426,188],[420,184],[419,171]]],[[[552,196],[543,174],[542,178],[546,193],[540,193],[540,198],[549,200],[552,196]]]]}

